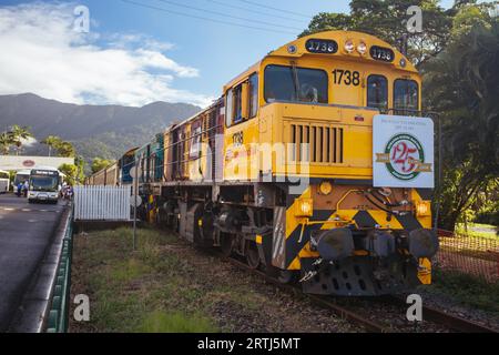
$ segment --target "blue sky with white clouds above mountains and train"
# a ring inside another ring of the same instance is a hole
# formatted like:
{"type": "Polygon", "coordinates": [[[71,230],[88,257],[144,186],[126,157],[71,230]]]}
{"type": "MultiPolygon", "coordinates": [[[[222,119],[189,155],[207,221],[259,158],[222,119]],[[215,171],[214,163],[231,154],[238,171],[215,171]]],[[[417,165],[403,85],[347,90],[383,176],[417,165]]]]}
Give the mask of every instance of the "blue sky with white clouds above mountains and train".
{"type": "MultiPolygon", "coordinates": [[[[452,2],[445,0],[441,4],[449,7],[452,2]]],[[[12,54],[7,54],[3,63],[0,59],[0,68],[3,68],[3,71],[0,69],[0,94],[29,90],[51,99],[78,103],[141,105],[155,100],[205,104],[221,93],[226,81],[268,51],[295,39],[314,14],[348,12],[349,1],[81,0],[64,2],[65,7],[53,1],[2,0],[0,3],[0,20],[2,16],[12,20],[10,27],[2,28],[0,24],[0,44],[23,43],[17,45],[19,48],[12,54]],[[84,4],[90,10],[90,33],[64,37],[63,26],[70,28],[71,12],[78,4],[84,4]],[[215,23],[159,9],[265,30],[215,23]],[[58,11],[62,14],[54,16],[58,11]],[[29,31],[21,26],[23,21],[31,26],[29,31]],[[57,26],[58,21],[62,27],[57,26]],[[29,42],[34,40],[38,42],[29,42]],[[43,41],[42,47],[40,42],[43,41]],[[38,51],[33,50],[34,45],[39,45],[38,51]],[[23,59],[17,58],[16,53],[23,59]],[[38,71],[31,72],[30,63],[24,60],[27,53],[39,59],[34,61],[40,65],[38,71]],[[58,62],[63,59],[64,62],[58,62]],[[26,68],[19,64],[23,61],[26,68]],[[74,61],[74,65],[67,65],[68,61],[74,61]],[[95,68],[99,70],[95,71],[95,68]],[[17,72],[19,75],[14,75],[17,72]],[[30,78],[22,77],[28,77],[28,73],[30,78]],[[44,74],[50,78],[42,80],[45,78],[37,77],[44,74]],[[90,81],[89,78],[100,80],[90,81]],[[101,87],[98,82],[102,82],[101,87]],[[126,87],[134,88],[131,89],[134,92],[125,92],[126,87]]]]}

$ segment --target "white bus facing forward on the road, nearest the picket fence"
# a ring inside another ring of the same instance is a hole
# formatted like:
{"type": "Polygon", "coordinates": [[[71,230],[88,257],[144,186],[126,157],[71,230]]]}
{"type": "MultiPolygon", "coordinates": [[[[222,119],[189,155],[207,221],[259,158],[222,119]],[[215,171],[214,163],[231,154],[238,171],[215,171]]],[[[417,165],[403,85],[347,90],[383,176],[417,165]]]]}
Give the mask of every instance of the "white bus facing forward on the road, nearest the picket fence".
{"type": "Polygon", "coordinates": [[[28,202],[58,203],[61,174],[54,168],[39,168],[31,170],[28,202]]]}

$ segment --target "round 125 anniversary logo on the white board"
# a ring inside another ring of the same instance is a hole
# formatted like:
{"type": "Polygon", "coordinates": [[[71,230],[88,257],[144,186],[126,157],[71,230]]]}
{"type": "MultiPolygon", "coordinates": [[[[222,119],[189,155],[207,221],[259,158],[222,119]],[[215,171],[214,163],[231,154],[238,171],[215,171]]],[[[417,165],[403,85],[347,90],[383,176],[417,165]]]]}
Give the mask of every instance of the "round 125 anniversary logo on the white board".
{"type": "Polygon", "coordinates": [[[399,180],[413,180],[420,173],[425,162],[421,143],[408,133],[393,136],[385,148],[385,163],[389,173],[399,180]]]}

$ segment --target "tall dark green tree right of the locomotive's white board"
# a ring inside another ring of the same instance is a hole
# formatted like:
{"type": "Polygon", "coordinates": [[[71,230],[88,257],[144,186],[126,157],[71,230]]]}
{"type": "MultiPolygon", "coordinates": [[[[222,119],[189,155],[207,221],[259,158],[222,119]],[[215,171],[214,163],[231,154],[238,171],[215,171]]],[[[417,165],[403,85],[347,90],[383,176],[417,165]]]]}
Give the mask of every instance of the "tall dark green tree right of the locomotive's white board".
{"type": "Polygon", "coordinates": [[[448,230],[499,175],[498,21],[467,4],[455,27],[448,48],[425,68],[426,104],[442,120],[440,224],[448,230]]]}

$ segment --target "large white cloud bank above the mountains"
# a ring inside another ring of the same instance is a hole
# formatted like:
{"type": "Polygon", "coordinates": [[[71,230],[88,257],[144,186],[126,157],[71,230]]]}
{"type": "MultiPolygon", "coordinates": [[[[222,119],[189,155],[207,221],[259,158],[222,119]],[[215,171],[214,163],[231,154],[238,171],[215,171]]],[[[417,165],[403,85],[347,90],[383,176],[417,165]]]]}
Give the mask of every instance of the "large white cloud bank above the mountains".
{"type": "Polygon", "coordinates": [[[0,8],[0,94],[33,92],[63,102],[125,105],[211,102],[174,88],[177,78],[200,73],[163,53],[172,43],[140,33],[96,33],[95,27],[79,33],[72,30],[74,7],[35,2],[0,8]]]}

